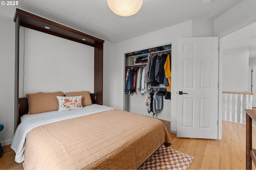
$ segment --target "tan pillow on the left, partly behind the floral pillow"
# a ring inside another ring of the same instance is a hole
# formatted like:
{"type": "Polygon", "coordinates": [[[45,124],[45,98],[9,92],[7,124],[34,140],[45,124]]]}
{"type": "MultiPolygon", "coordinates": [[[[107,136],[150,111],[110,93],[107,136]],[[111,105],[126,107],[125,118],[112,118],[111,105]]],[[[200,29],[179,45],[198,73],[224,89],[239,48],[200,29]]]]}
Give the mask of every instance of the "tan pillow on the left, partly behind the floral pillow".
{"type": "Polygon", "coordinates": [[[56,96],[63,96],[62,92],[26,94],[28,98],[28,114],[44,113],[59,109],[56,96]]]}

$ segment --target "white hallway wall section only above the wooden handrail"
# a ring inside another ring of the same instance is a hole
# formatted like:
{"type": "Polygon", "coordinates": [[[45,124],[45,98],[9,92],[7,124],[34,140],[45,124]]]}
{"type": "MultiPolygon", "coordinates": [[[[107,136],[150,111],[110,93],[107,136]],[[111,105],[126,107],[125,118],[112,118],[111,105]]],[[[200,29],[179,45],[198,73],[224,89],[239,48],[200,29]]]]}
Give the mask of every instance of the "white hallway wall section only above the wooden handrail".
{"type": "Polygon", "coordinates": [[[248,47],[223,50],[222,90],[248,91],[248,47]]]}

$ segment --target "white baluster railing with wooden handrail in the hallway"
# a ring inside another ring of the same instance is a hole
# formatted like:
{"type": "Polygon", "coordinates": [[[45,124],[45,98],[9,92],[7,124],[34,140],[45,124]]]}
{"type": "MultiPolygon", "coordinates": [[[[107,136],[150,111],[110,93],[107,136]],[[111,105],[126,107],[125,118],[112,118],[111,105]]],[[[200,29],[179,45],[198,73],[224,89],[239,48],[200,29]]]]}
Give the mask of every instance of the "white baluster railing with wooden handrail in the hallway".
{"type": "MultiPolygon", "coordinates": [[[[233,122],[240,122],[245,123],[246,120],[246,114],[244,109],[252,109],[252,92],[228,92],[223,91],[224,100],[222,100],[224,103],[224,115],[222,115],[222,120],[228,120],[233,122]],[[239,102],[238,96],[240,95],[240,105],[237,105],[237,102],[239,102]],[[234,100],[233,100],[234,96],[234,100]],[[229,101],[228,101],[229,99],[229,101]],[[245,100],[244,100],[245,99],[245,100]],[[230,102],[229,110],[227,109],[227,102],[230,102]],[[240,107],[240,108],[239,108],[240,107]],[[237,110],[240,109],[240,114],[237,114],[237,110]],[[229,116],[227,115],[229,111],[229,116]]],[[[223,110],[223,109],[222,109],[223,110]]]]}

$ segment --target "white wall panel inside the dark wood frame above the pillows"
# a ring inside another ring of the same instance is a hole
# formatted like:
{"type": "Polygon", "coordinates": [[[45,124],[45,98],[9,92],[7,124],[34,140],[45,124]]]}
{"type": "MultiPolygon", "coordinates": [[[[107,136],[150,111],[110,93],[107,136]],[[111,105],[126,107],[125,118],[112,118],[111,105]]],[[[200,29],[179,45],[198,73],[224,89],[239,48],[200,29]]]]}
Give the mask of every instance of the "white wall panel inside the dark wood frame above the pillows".
{"type": "Polygon", "coordinates": [[[25,28],[23,63],[23,33],[20,27],[19,97],[37,92],[94,92],[94,47],[25,28]]]}

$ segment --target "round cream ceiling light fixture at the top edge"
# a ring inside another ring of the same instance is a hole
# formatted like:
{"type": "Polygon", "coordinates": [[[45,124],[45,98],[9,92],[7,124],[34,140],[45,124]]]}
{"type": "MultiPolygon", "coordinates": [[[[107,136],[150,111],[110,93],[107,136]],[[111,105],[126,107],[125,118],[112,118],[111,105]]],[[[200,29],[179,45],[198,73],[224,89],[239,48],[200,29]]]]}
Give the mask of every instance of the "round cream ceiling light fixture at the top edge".
{"type": "Polygon", "coordinates": [[[132,16],[136,14],[143,0],[108,0],[108,7],[118,16],[132,16]]]}

